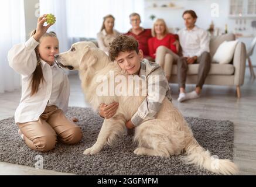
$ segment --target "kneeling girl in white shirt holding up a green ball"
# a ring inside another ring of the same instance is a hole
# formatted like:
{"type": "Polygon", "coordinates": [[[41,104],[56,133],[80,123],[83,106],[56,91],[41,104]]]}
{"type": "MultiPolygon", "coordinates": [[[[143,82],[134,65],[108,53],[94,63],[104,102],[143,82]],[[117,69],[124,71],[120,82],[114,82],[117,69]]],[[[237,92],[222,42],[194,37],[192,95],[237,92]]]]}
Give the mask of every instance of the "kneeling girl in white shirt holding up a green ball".
{"type": "Polygon", "coordinates": [[[22,76],[21,102],[15,112],[15,123],[25,143],[36,151],[55,147],[57,136],[67,144],[81,140],[80,127],[66,118],[69,103],[69,80],[54,63],[59,41],[52,25],[43,26],[40,16],[37,28],[25,44],[17,44],[8,53],[9,65],[22,76]]]}

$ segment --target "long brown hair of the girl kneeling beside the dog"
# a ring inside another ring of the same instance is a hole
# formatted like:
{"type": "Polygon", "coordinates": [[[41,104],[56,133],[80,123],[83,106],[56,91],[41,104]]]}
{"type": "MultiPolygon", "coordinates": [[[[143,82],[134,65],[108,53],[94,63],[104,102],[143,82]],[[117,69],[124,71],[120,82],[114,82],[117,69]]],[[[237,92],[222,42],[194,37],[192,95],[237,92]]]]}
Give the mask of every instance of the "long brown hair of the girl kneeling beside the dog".
{"type": "MultiPolygon", "coordinates": [[[[30,33],[30,37],[33,37],[33,35],[35,33],[36,33],[36,30],[33,30],[30,33]]],[[[47,36],[56,37],[57,38],[56,33],[49,32],[49,33],[43,34],[41,39],[43,37],[47,37],[47,36]]],[[[40,40],[39,40],[39,43],[40,43],[40,40]]],[[[43,70],[42,70],[42,67],[41,67],[41,61],[40,61],[40,56],[39,56],[39,52],[38,52],[38,46],[36,47],[35,52],[36,52],[36,69],[33,72],[32,79],[31,79],[31,82],[30,82],[30,85],[31,85],[30,96],[32,96],[35,93],[37,93],[40,83],[42,82],[42,84],[43,84],[43,81],[45,81],[45,78],[43,77],[43,70]]]]}

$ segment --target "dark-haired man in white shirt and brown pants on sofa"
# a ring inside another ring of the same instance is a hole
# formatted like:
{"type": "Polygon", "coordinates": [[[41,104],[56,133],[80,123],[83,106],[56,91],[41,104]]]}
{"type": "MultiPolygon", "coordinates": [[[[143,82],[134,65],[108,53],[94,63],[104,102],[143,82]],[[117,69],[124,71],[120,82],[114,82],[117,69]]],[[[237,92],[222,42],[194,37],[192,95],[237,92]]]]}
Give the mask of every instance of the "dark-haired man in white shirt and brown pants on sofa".
{"type": "Polygon", "coordinates": [[[183,19],[185,20],[186,28],[178,33],[183,53],[183,57],[178,60],[179,102],[199,98],[211,65],[209,33],[195,25],[197,15],[194,11],[185,11],[183,19]],[[199,63],[196,89],[193,92],[186,93],[185,82],[188,65],[193,63],[199,63]]]}

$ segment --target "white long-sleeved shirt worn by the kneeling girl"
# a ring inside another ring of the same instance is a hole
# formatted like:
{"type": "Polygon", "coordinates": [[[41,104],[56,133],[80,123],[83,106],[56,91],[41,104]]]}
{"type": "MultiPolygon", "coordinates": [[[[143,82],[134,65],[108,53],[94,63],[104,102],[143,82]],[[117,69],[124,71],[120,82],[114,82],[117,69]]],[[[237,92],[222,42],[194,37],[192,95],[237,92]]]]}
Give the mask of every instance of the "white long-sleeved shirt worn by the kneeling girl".
{"type": "Polygon", "coordinates": [[[38,92],[30,96],[30,82],[37,65],[35,48],[38,44],[33,37],[30,37],[25,44],[16,44],[8,53],[10,67],[22,77],[22,95],[15,112],[15,123],[39,120],[47,105],[56,105],[64,112],[67,111],[70,95],[69,79],[56,64],[50,66],[41,60],[45,81],[40,82],[38,92]]]}

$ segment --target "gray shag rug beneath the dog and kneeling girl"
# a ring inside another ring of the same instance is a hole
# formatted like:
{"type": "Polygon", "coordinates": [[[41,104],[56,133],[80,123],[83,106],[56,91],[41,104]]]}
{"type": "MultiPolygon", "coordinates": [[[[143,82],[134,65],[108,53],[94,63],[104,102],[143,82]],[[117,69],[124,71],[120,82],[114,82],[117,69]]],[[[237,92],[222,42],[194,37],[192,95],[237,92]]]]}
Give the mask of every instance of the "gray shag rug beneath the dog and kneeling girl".
{"type": "MultiPolygon", "coordinates": [[[[105,146],[96,155],[83,155],[97,140],[103,119],[89,108],[69,108],[68,117],[77,117],[83,140],[75,145],[58,142],[47,153],[30,150],[18,134],[13,117],[0,121],[0,161],[30,167],[43,167],[78,175],[215,175],[206,169],[187,165],[179,156],[169,158],[135,155],[132,136],[118,139],[114,147],[105,146]],[[43,162],[38,162],[40,161],[43,162]]],[[[185,117],[194,137],[211,155],[233,159],[234,124],[230,121],[185,117]]]]}

